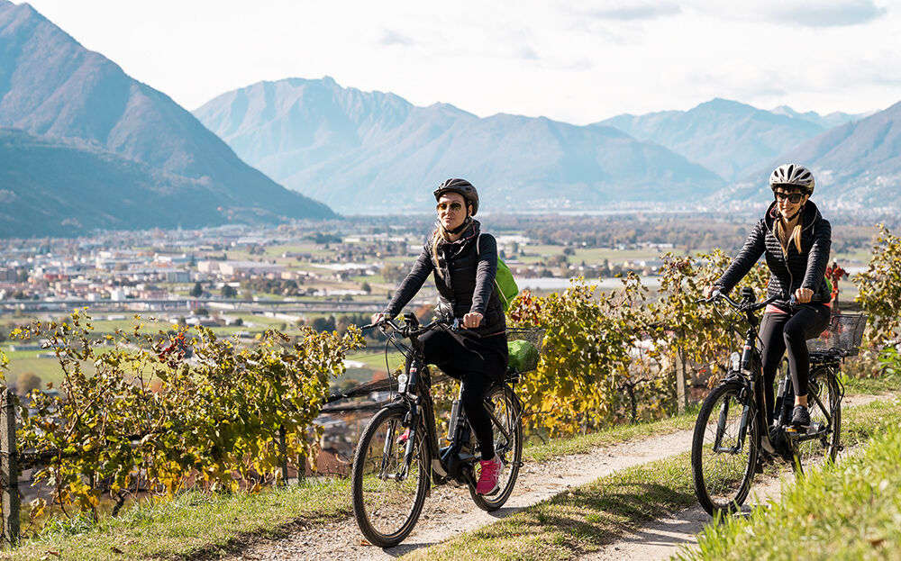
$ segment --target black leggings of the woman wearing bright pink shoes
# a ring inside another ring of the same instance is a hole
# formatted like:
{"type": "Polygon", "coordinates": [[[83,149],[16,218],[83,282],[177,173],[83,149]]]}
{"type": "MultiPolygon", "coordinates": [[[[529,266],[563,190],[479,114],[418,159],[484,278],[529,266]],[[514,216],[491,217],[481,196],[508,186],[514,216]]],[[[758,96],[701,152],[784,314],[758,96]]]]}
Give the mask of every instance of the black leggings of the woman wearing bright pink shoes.
{"type": "MultiPolygon", "coordinates": [[[[505,348],[506,338],[503,339],[505,348]]],[[[485,348],[475,351],[465,347],[446,331],[429,331],[420,341],[426,362],[439,366],[448,376],[462,382],[460,405],[469,419],[469,426],[476,433],[482,459],[495,457],[494,430],[483,403],[491,386],[504,376],[506,357],[493,352],[491,347],[495,341],[486,341],[488,344],[485,348]]]]}

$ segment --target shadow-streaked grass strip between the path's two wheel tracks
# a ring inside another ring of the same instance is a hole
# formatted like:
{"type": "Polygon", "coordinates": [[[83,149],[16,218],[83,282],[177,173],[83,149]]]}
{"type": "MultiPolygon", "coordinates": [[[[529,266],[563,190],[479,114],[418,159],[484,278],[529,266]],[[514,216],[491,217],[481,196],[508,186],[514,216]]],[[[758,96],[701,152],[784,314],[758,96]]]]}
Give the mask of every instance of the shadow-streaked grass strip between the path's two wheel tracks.
{"type": "MultiPolygon", "coordinates": [[[[843,413],[842,443],[851,447],[901,425],[901,400],[869,403],[843,413]]],[[[479,556],[560,561],[585,555],[613,542],[628,529],[696,504],[689,458],[684,453],[607,475],[490,526],[411,552],[403,559],[479,556]]],[[[829,503],[816,504],[823,508],[829,503]]],[[[763,539],[767,536],[760,534],[763,539]]],[[[791,555],[792,548],[785,551],[791,555]]],[[[761,558],[753,553],[749,549],[744,556],[733,558],[761,558]]]]}

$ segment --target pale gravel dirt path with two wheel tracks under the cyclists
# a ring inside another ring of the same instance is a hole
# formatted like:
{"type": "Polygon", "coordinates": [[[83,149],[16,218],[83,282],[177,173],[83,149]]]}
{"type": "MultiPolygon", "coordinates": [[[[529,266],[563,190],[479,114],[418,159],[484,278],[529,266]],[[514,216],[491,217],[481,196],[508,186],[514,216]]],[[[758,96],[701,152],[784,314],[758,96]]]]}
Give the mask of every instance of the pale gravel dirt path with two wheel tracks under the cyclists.
{"type": "MultiPolygon", "coordinates": [[[[848,396],[844,404],[857,406],[878,396],[848,396]]],[[[465,488],[444,485],[432,491],[425,502],[423,515],[413,534],[397,547],[381,549],[369,545],[359,533],[352,518],[335,520],[296,532],[281,539],[263,540],[241,553],[226,557],[238,560],[318,561],[333,559],[381,560],[429,547],[463,532],[491,524],[499,518],[541,502],[569,487],[587,484],[616,471],[670,457],[691,448],[691,432],[679,431],[651,439],[635,440],[611,447],[597,448],[588,454],[559,457],[544,464],[526,463],[516,483],[514,496],[504,508],[495,512],[481,511],[469,498],[465,488]]],[[[790,475],[789,475],[790,476],[790,475]]],[[[778,493],[778,479],[774,485],[778,493]]],[[[760,501],[766,500],[769,487],[755,483],[760,501]]],[[[636,530],[627,538],[610,544],[590,559],[667,558],[683,543],[690,543],[710,518],[700,508],[680,512],[667,520],[659,520],[636,530]],[[652,546],[652,547],[651,547],[652,546]],[[644,547],[651,547],[644,549],[644,547]],[[627,553],[632,551],[633,553],[627,553]]]]}

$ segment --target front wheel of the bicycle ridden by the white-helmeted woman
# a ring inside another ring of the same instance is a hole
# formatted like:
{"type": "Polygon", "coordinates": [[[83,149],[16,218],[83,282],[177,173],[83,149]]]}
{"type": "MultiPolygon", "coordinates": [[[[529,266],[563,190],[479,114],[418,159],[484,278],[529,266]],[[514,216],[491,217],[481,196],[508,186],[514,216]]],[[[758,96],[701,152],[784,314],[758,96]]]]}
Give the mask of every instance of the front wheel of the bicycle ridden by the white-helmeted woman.
{"type": "Polygon", "coordinates": [[[760,427],[741,382],[726,382],[707,396],[691,442],[691,471],[698,502],[707,513],[733,512],[751,490],[760,450],[760,427]],[[747,407],[747,427],[742,417],[747,407]]]}

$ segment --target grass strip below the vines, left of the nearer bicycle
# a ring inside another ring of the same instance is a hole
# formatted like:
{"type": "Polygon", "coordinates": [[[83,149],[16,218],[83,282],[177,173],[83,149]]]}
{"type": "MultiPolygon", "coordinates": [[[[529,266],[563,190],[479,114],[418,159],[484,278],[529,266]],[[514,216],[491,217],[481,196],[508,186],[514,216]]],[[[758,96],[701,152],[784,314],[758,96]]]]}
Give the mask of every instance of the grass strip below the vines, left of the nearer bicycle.
{"type": "Polygon", "coordinates": [[[0,559],[106,561],[217,558],[251,539],[276,537],[350,515],[349,484],[291,485],[261,493],[183,493],[96,525],[61,525],[0,559]],[[121,553],[117,553],[118,549],[121,553]],[[49,553],[55,552],[55,553],[49,553]]]}

